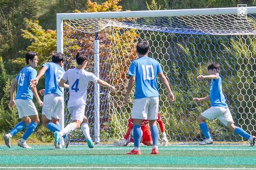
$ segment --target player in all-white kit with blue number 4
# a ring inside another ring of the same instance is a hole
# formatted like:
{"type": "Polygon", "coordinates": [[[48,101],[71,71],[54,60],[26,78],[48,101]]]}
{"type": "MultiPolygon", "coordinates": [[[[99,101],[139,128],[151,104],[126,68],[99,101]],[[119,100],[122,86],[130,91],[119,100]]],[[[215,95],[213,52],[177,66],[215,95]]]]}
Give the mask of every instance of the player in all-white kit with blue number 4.
{"type": "Polygon", "coordinates": [[[60,137],[74,131],[76,128],[81,126],[82,132],[87,139],[89,148],[93,148],[94,144],[89,134],[88,119],[86,116],[84,116],[88,83],[90,81],[99,83],[103,87],[108,87],[112,90],[115,90],[115,87],[109,85],[109,83],[104,82],[103,80],[100,80],[93,73],[84,70],[88,60],[88,56],[85,52],[77,52],[75,60],[77,62],[77,67],[68,69],[59,83],[60,87],[65,87],[64,83],[68,81],[68,111],[72,114],[73,122],[68,124],[60,132],[54,132],[54,142],[57,145],[60,141],[60,137]]]}

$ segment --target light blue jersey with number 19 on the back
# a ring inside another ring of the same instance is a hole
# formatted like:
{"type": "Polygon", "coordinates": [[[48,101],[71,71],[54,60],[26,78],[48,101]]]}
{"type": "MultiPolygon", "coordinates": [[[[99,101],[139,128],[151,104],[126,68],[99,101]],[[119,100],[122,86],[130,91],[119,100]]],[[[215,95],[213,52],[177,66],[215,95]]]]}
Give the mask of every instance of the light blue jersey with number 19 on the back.
{"type": "Polygon", "coordinates": [[[16,76],[18,80],[18,90],[15,99],[32,100],[33,92],[30,88],[30,80],[37,77],[37,71],[31,66],[24,67],[16,76]]]}

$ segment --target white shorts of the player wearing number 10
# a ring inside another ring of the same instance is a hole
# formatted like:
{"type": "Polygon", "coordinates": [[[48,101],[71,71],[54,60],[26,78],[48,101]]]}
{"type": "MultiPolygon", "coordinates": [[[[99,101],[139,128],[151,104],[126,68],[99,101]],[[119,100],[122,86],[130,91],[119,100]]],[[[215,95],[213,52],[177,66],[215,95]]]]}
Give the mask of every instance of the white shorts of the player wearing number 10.
{"type": "Polygon", "coordinates": [[[157,120],[158,104],[158,97],[144,97],[141,99],[134,99],[132,107],[132,118],[142,120],[157,120]]]}

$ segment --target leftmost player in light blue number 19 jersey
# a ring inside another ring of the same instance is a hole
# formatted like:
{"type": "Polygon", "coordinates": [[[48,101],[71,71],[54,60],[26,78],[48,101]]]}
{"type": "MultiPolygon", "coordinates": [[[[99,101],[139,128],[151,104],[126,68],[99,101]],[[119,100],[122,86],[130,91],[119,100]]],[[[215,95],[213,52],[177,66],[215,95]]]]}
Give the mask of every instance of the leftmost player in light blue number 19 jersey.
{"type": "Polygon", "coordinates": [[[28,126],[21,140],[19,140],[18,146],[24,148],[31,148],[26,144],[26,140],[35,131],[35,128],[39,123],[37,109],[32,101],[33,94],[35,95],[39,106],[43,105],[43,102],[40,100],[39,95],[37,94],[37,89],[35,87],[30,88],[29,85],[29,81],[37,76],[37,71],[34,69],[34,67],[37,66],[38,63],[37,53],[30,51],[26,54],[25,58],[27,65],[12,81],[10,89],[11,101],[9,103],[9,106],[10,108],[13,108],[16,104],[19,118],[21,118],[22,121],[19,122],[8,134],[4,135],[5,144],[8,147],[11,147],[11,137],[23,130],[23,128],[25,128],[26,126],[28,126]],[[18,90],[14,100],[14,90],[17,84],[18,90]]]}

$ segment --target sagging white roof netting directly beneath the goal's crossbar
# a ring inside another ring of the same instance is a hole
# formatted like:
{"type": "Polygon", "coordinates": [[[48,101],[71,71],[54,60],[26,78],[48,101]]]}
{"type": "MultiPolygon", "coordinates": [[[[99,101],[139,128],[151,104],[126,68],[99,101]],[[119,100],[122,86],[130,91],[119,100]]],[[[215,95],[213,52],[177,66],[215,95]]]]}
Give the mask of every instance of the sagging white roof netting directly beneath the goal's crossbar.
{"type": "Polygon", "coordinates": [[[177,16],[125,19],[70,19],[68,26],[86,33],[95,33],[114,26],[172,33],[208,35],[255,35],[255,18],[238,19],[237,15],[177,16]]]}

